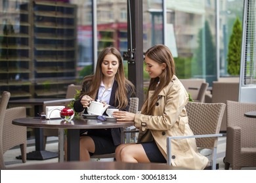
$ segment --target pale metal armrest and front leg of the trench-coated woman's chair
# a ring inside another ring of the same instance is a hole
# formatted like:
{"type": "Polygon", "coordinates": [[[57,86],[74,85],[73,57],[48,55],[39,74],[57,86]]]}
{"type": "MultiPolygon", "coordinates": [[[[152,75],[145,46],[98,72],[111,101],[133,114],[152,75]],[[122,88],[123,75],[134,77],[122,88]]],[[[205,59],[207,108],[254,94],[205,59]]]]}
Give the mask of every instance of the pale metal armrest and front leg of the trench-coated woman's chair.
{"type": "Polygon", "coordinates": [[[191,138],[207,138],[207,137],[222,137],[223,134],[205,134],[205,135],[189,135],[189,136],[174,136],[167,137],[167,165],[171,165],[171,139],[191,139],[191,138]]]}

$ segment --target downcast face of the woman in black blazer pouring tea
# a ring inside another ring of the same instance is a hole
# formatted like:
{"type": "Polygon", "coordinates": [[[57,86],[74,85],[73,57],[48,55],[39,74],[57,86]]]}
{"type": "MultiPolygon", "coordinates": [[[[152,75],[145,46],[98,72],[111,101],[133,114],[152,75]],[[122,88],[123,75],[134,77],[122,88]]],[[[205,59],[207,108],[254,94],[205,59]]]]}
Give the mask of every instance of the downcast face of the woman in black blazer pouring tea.
{"type": "Polygon", "coordinates": [[[114,77],[117,73],[118,67],[119,61],[117,57],[114,54],[106,54],[101,63],[103,77],[114,77]]]}

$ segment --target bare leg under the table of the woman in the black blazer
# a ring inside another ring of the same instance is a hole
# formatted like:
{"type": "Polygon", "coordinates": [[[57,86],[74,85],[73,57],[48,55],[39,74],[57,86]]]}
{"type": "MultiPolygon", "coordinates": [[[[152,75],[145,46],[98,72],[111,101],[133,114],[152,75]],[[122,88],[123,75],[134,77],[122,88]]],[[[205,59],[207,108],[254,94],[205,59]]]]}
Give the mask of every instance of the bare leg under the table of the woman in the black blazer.
{"type": "Polygon", "coordinates": [[[90,161],[89,152],[95,152],[95,142],[89,136],[80,137],[80,161],[90,161]]]}

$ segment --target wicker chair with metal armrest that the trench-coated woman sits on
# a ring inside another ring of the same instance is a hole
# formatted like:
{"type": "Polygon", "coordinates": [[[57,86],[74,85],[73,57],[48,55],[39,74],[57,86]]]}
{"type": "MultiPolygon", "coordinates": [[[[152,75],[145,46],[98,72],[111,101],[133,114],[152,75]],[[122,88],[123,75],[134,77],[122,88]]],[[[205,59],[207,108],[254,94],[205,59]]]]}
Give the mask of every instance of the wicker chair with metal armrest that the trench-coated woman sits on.
{"type": "Polygon", "coordinates": [[[188,124],[194,135],[167,137],[167,164],[171,165],[171,139],[196,138],[198,148],[212,150],[209,160],[211,162],[211,169],[216,169],[217,142],[218,137],[222,136],[222,134],[219,134],[219,131],[225,107],[224,103],[188,102],[186,105],[188,124]]]}

